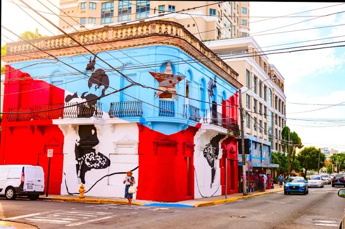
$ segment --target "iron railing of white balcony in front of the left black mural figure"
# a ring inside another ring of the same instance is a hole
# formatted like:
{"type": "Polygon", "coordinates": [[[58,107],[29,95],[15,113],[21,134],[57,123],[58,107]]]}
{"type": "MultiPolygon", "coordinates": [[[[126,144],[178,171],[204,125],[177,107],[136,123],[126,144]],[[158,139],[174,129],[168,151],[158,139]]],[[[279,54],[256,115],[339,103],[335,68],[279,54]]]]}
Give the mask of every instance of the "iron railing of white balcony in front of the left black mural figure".
{"type": "Polygon", "coordinates": [[[88,102],[84,104],[65,103],[65,118],[82,118],[82,117],[102,117],[102,103],[88,102]],[[74,105],[72,107],[68,107],[74,105]]]}

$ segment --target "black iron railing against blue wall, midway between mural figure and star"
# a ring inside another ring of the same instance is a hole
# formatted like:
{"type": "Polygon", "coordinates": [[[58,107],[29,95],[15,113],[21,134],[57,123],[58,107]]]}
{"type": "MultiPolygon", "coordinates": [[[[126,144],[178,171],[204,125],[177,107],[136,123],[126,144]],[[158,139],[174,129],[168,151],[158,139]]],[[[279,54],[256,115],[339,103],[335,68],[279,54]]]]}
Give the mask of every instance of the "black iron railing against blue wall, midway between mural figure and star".
{"type": "Polygon", "coordinates": [[[142,102],[126,101],[110,103],[109,117],[141,117],[142,102]]]}

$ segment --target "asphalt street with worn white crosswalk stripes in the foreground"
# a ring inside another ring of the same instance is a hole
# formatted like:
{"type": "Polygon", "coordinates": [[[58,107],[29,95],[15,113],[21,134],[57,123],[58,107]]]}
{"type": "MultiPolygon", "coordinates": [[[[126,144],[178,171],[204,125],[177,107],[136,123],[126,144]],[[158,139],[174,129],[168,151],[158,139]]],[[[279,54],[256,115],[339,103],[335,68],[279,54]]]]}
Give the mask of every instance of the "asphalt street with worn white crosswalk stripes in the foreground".
{"type": "Polygon", "coordinates": [[[0,199],[2,219],[39,229],[66,228],[339,228],[345,199],[341,187],[311,188],[309,194],[281,193],[198,208],[160,208],[0,199]]]}

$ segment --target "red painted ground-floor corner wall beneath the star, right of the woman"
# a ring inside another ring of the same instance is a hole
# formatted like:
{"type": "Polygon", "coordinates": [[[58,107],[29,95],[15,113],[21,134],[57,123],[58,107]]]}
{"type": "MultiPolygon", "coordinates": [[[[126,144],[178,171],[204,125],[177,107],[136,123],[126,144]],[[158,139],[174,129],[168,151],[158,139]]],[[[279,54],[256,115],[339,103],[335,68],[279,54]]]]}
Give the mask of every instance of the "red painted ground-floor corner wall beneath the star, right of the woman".
{"type": "Polygon", "coordinates": [[[137,199],[194,199],[194,136],[198,127],[164,135],[138,123],[139,179],[137,199]],[[188,166],[187,166],[188,165],[188,166]]]}

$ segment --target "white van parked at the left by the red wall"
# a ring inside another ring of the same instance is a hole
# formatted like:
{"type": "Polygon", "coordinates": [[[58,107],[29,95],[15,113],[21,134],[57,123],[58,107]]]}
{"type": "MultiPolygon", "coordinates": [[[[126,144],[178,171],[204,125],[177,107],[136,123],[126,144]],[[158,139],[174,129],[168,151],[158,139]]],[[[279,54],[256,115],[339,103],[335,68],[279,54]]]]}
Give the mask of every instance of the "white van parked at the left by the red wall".
{"type": "Polygon", "coordinates": [[[0,195],[7,200],[28,196],[37,200],[44,194],[44,172],[40,166],[0,165],[0,195]]]}

